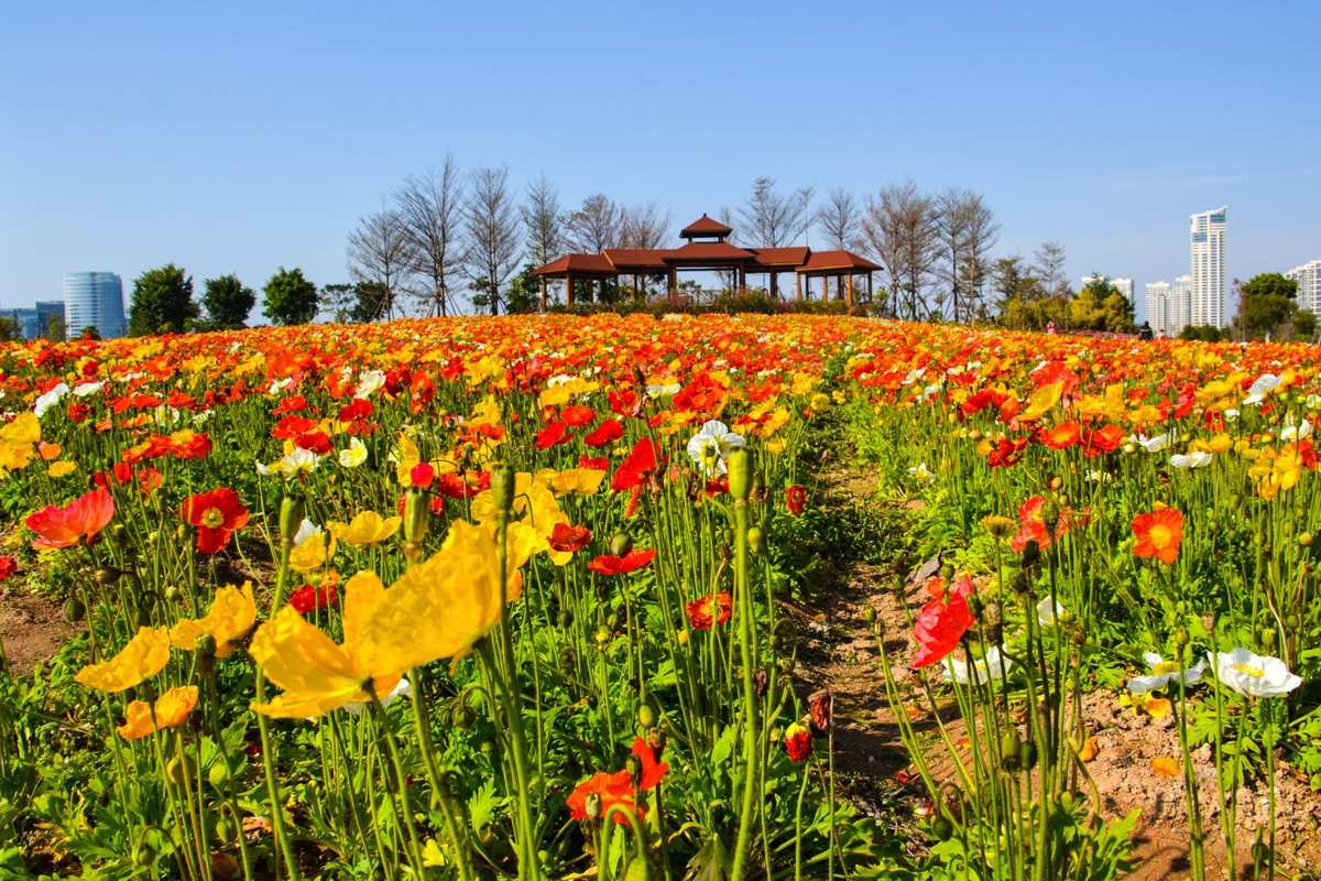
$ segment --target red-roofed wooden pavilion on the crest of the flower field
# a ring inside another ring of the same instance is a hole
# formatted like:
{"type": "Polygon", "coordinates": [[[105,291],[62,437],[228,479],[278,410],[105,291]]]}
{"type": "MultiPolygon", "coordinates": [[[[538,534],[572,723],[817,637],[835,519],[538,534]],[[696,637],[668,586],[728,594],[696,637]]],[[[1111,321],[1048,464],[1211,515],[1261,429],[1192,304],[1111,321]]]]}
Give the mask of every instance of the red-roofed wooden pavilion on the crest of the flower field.
{"type": "Polygon", "coordinates": [[[642,292],[642,279],[664,277],[670,299],[679,296],[679,272],[725,272],[736,289],[748,287],[748,276],[765,276],[773,297],[779,296],[779,276],[794,273],[794,297],[810,296],[812,279],[820,279],[822,299],[830,299],[830,280],[835,279],[836,296],[853,306],[855,279],[864,279],[867,300],[872,299],[872,273],[881,267],[852,251],[812,251],[806,246],[782,248],[742,248],[729,243],[733,230],[703,214],[683,227],[678,248],[605,248],[600,254],[565,254],[538,268],[542,279],[542,309],[546,309],[546,285],[551,279],[564,281],[564,299],[573,305],[579,285],[587,285],[588,300],[593,288],[604,293],[605,283],[630,279],[634,296],[642,292]]]}

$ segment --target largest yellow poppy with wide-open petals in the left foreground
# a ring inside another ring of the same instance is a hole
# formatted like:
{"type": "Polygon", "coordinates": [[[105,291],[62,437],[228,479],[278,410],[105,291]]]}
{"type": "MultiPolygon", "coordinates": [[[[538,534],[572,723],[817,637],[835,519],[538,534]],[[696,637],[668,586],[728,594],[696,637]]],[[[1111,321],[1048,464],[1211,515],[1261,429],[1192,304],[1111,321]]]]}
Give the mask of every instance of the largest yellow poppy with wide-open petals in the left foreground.
{"type": "MultiPolygon", "coordinates": [[[[359,572],[345,585],[342,645],[281,609],[258,629],[251,652],[284,693],[252,709],[312,719],[369,701],[367,682],[386,695],[410,667],[466,654],[503,613],[495,547],[493,530],[456,520],[440,551],[388,590],[374,572],[359,572]]],[[[519,585],[514,571],[510,601],[519,585]]]]}

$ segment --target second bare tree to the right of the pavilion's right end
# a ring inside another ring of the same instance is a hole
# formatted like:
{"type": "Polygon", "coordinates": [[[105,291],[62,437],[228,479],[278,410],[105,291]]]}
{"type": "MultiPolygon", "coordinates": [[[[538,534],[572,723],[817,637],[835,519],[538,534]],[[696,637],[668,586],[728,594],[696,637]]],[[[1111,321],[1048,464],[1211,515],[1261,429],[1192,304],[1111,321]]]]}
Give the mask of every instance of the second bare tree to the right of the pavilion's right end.
{"type": "Polygon", "coordinates": [[[974,312],[985,287],[987,252],[995,243],[997,227],[982,195],[972,190],[948,189],[933,201],[935,235],[939,240],[938,275],[943,289],[938,293],[939,312],[946,297],[951,317],[963,321],[974,312]]]}

